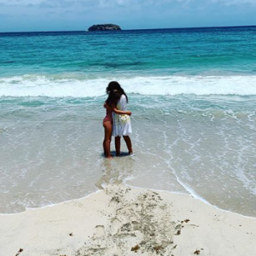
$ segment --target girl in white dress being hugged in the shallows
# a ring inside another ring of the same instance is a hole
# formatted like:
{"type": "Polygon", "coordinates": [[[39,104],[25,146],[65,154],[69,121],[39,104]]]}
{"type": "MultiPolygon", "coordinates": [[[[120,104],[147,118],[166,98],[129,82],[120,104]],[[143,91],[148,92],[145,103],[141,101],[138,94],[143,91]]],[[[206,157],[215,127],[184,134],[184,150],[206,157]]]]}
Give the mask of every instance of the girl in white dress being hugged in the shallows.
{"type": "MultiPolygon", "coordinates": [[[[106,89],[107,93],[110,91],[117,90],[119,92],[120,99],[119,102],[116,104],[116,108],[122,111],[127,111],[127,102],[128,97],[125,94],[125,90],[120,86],[118,82],[110,82],[108,84],[108,87],[106,89]]],[[[121,137],[124,138],[126,146],[128,148],[129,154],[132,154],[132,144],[131,144],[131,138],[129,135],[131,135],[131,118],[127,114],[113,114],[113,132],[112,135],[114,136],[114,144],[115,144],[115,150],[116,155],[119,156],[120,154],[120,146],[121,146],[121,137]]]]}

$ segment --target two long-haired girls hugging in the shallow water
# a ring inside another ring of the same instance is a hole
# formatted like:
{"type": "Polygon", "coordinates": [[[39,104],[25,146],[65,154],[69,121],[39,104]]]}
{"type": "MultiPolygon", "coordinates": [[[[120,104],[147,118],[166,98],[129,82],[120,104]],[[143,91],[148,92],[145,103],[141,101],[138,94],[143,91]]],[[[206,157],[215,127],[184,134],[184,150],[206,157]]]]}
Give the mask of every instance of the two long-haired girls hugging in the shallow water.
{"type": "Polygon", "coordinates": [[[104,154],[112,158],[110,154],[111,137],[114,136],[116,156],[120,154],[121,137],[124,137],[129,154],[132,154],[131,138],[131,111],[126,110],[128,97],[125,90],[116,81],[108,84],[106,89],[108,99],[104,103],[106,117],[103,119],[105,137],[103,141],[104,154]]]}

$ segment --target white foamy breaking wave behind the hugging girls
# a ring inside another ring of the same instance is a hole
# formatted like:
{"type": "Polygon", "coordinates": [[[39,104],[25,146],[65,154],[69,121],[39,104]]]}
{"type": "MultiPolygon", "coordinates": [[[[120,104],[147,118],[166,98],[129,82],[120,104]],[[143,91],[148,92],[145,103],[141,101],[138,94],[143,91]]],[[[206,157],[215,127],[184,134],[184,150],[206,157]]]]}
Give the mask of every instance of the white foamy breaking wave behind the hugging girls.
{"type": "Polygon", "coordinates": [[[53,79],[20,76],[0,79],[0,96],[103,96],[111,80],[140,95],[256,95],[256,76],[148,76],[104,79],[53,79]]]}

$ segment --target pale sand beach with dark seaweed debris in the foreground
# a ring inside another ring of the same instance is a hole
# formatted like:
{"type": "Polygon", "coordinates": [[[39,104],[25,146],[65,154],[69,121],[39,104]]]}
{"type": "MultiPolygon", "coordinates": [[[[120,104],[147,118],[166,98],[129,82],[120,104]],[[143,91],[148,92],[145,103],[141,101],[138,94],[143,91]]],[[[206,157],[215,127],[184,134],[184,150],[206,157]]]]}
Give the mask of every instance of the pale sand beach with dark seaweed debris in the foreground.
{"type": "Polygon", "coordinates": [[[0,231],[1,256],[256,255],[256,218],[124,185],[2,215],[0,231]]]}

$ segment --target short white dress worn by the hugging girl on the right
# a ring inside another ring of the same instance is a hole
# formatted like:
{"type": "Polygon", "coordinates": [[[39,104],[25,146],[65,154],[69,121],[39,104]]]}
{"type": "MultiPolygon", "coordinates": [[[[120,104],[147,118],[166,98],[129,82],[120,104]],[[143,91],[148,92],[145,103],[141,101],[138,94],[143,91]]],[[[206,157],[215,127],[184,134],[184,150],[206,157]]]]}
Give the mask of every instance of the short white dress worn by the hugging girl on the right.
{"type": "MultiPolygon", "coordinates": [[[[119,99],[119,102],[116,105],[116,108],[119,110],[127,111],[126,110],[126,97],[122,95],[119,99]]],[[[131,118],[128,114],[113,114],[113,132],[112,135],[114,137],[121,137],[121,136],[128,136],[131,134],[131,118]]]]}

